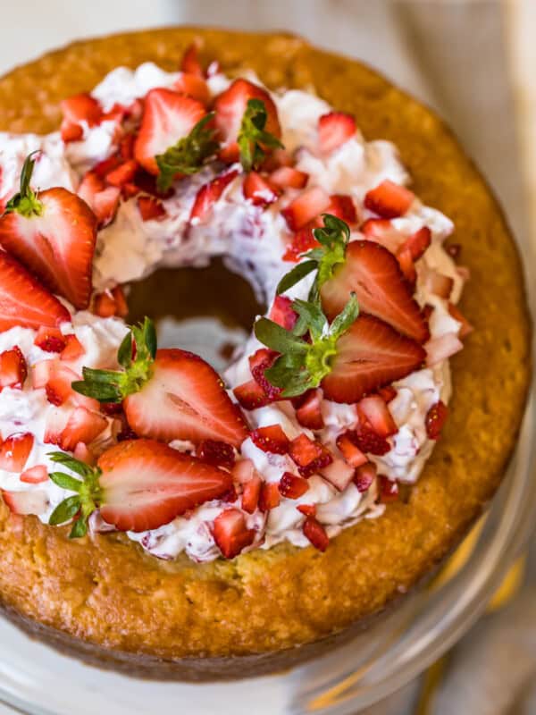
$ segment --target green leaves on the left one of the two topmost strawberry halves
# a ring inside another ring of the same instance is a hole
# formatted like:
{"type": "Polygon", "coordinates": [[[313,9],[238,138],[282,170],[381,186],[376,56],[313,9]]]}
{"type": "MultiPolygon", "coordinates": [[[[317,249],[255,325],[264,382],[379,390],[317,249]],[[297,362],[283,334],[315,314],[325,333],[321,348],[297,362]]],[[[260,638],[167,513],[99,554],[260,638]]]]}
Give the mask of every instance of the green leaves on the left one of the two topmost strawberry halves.
{"type": "Polygon", "coordinates": [[[197,122],[188,137],[179,141],[155,156],[156,164],[160,170],[158,174],[158,189],[166,191],[179,173],[197,173],[203,168],[207,159],[210,159],[218,148],[219,142],[215,139],[216,130],[209,126],[214,120],[214,112],[206,114],[197,122]]]}

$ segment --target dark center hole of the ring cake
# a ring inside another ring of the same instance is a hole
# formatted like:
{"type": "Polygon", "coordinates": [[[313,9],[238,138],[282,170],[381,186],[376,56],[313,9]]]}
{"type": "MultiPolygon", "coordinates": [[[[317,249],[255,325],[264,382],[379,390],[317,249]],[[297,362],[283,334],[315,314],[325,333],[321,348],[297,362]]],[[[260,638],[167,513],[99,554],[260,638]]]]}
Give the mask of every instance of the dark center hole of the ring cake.
{"type": "Polygon", "coordinates": [[[218,372],[246,341],[265,307],[249,282],[216,258],[205,268],[162,268],[128,292],[130,324],[151,317],[160,348],[197,353],[218,372]]]}

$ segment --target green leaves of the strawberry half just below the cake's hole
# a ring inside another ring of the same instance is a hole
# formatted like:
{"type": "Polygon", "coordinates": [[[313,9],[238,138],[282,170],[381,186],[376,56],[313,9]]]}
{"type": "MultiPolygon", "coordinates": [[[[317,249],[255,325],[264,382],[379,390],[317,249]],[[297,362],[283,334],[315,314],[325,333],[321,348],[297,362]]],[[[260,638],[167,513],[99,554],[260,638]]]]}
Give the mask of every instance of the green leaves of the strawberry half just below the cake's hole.
{"type": "Polygon", "coordinates": [[[155,324],[146,317],[143,324],[133,325],[121,341],[117,360],[122,370],[84,367],[84,379],[72,383],[71,387],[99,402],[122,402],[128,395],[140,391],[151,378],[155,356],[155,324]]]}

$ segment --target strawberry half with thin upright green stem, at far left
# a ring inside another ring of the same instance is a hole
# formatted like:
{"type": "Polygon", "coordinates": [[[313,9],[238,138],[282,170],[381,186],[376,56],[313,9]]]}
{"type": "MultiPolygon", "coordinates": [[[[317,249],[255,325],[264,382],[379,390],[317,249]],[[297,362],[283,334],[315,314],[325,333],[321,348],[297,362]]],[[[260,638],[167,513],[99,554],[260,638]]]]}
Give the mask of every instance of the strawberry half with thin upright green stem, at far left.
{"type": "Polygon", "coordinates": [[[50,290],[76,308],[88,307],[96,242],[96,216],[76,194],[57,187],[34,193],[34,161],[27,157],[21,191],[0,217],[0,243],[50,290]]]}

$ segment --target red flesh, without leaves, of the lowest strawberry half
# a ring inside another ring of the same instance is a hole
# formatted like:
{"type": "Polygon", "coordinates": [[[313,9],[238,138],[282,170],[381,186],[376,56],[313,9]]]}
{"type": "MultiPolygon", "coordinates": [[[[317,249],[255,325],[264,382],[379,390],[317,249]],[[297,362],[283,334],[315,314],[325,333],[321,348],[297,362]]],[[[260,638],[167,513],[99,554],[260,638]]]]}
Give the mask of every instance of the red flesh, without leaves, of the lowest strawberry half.
{"type": "Polygon", "coordinates": [[[97,465],[101,516],[120,531],[156,529],[232,486],[228,472],[153,440],[121,442],[97,465]]]}

